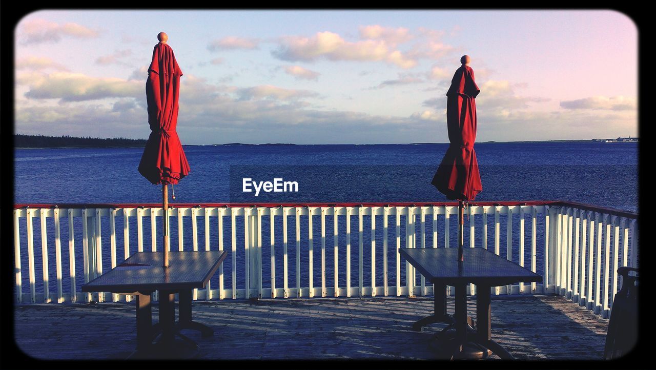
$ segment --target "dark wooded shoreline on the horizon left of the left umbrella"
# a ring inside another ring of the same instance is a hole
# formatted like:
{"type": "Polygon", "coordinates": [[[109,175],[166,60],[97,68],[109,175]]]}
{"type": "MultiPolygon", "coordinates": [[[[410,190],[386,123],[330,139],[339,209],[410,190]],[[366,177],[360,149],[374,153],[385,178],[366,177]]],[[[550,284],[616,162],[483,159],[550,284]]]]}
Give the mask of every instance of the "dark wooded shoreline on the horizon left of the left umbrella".
{"type": "Polygon", "coordinates": [[[130,138],[77,138],[73,136],[14,135],[14,148],[125,148],[143,147],[144,139],[130,138]]]}

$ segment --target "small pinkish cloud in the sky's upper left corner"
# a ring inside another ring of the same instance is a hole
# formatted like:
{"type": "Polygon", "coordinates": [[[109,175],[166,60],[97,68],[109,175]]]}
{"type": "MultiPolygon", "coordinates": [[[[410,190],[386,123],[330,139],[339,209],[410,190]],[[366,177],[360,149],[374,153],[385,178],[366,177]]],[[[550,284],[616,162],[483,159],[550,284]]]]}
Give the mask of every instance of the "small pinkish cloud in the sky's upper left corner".
{"type": "Polygon", "coordinates": [[[77,23],[58,24],[40,18],[26,20],[18,27],[17,38],[24,45],[38,43],[57,43],[63,37],[92,39],[98,37],[98,31],[77,23]]]}

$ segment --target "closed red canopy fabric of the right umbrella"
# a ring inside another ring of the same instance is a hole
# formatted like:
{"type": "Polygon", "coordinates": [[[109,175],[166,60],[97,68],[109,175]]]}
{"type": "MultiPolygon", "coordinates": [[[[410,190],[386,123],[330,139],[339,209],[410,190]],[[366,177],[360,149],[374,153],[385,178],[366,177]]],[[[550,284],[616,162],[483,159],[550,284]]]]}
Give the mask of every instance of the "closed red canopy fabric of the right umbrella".
{"type": "Polygon", "coordinates": [[[451,144],[431,181],[451,200],[472,201],[483,190],[474,152],[478,93],[474,70],[463,64],[453,75],[447,92],[447,129],[451,144]]]}

